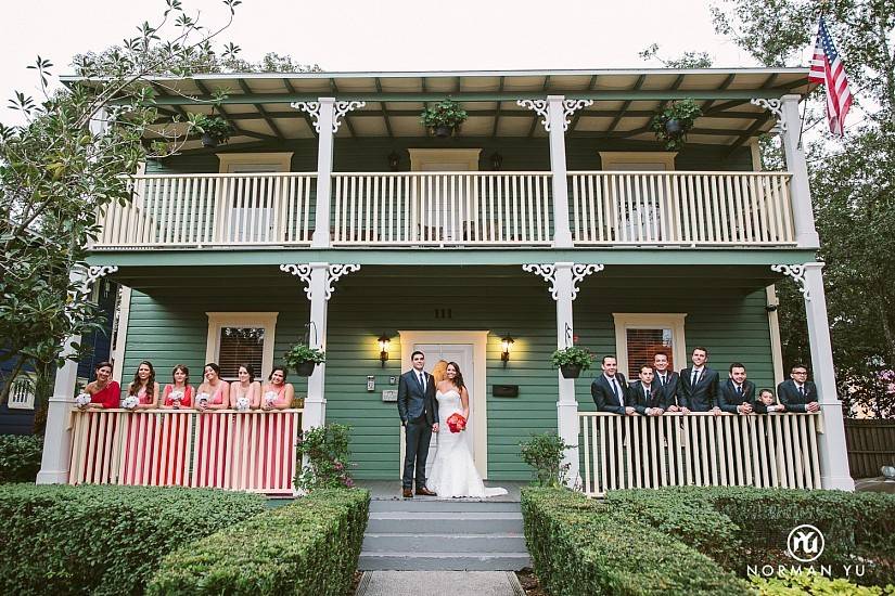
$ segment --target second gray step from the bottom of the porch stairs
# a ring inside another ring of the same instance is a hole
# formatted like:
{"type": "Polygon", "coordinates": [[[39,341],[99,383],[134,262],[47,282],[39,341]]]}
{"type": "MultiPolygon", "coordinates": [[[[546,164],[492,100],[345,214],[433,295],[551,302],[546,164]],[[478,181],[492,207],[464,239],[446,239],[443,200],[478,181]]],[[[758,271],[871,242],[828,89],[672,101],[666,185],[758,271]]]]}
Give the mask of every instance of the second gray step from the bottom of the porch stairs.
{"type": "Polygon", "coordinates": [[[411,534],[370,533],[363,535],[361,550],[437,552],[465,555],[466,553],[521,553],[525,550],[525,536],[509,532],[499,534],[411,534]]]}

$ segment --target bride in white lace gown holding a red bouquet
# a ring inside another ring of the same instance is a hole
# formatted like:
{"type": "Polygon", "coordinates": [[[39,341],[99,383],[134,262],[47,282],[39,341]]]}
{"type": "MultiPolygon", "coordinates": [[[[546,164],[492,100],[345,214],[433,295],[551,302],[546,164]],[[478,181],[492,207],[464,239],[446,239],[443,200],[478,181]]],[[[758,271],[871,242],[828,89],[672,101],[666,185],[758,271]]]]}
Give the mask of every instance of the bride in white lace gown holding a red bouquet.
{"type": "Polygon", "coordinates": [[[435,462],[427,488],[440,497],[451,496],[498,496],[507,494],[506,489],[486,489],[475,469],[472,453],[464,431],[451,432],[447,419],[460,413],[469,423],[470,394],[463,384],[463,375],[456,362],[450,362],[445,372],[445,380],[436,385],[435,399],[438,400],[438,433],[436,435],[435,462]]]}

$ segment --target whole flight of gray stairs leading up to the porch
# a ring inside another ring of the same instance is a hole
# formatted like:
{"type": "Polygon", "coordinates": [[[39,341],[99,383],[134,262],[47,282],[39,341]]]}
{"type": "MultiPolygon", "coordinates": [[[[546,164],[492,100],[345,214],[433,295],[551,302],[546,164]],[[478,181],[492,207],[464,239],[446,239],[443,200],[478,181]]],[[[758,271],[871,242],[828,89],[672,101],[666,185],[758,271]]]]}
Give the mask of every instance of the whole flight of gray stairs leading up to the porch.
{"type": "Polygon", "coordinates": [[[519,503],[370,503],[358,562],[362,571],[514,571],[528,566],[519,503]]]}

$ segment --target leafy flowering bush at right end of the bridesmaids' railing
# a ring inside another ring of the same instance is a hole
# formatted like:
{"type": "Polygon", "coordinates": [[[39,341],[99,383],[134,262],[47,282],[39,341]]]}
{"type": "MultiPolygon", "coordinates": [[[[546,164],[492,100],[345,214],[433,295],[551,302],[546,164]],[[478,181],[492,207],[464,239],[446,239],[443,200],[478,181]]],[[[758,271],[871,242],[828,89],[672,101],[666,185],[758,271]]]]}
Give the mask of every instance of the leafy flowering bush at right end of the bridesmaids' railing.
{"type": "Polygon", "coordinates": [[[298,457],[307,457],[295,475],[295,487],[305,492],[320,489],[350,489],[354,485],[348,469],[350,427],[328,423],[306,430],[296,446],[298,457]]]}

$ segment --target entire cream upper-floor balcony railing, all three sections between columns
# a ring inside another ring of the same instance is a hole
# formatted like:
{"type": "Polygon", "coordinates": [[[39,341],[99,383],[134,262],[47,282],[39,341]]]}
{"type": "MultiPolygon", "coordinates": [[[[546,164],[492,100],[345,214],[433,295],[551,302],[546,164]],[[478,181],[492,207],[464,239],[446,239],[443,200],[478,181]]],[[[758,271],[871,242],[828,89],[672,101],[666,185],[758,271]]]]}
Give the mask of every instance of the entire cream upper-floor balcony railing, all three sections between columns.
{"type": "MultiPolygon", "coordinates": [[[[334,173],[334,247],[551,246],[550,172],[334,173]]],[[[575,246],[792,246],[785,172],[571,172],[575,246]]],[[[93,249],[309,246],[314,173],[140,176],[93,249]]]]}

